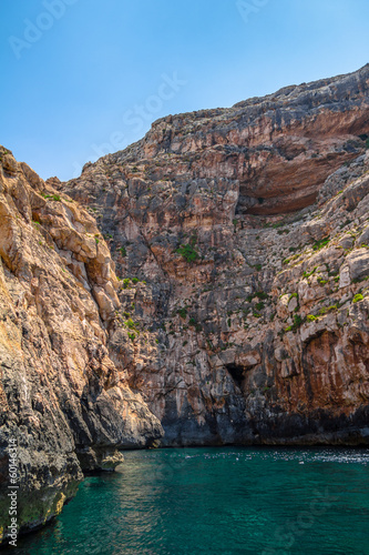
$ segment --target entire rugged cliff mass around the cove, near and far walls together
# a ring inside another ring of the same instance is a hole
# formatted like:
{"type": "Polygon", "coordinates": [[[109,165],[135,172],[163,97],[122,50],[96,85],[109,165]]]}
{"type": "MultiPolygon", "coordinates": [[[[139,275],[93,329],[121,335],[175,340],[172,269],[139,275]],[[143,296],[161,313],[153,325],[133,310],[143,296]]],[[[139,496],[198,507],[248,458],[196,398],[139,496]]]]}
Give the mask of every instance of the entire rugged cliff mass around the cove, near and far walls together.
{"type": "Polygon", "coordinates": [[[24,527],[163,431],[369,443],[368,109],[366,65],[163,118],[65,183],[1,149],[0,480],[16,437],[24,527]]]}

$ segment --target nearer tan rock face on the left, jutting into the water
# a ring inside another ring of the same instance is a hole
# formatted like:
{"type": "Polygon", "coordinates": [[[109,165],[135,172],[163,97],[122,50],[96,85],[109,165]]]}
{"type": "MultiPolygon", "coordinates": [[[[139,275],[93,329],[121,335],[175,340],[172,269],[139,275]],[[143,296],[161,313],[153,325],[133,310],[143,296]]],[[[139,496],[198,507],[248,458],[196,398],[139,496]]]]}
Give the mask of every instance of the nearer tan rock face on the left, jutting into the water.
{"type": "Polygon", "coordinates": [[[120,302],[94,219],[0,148],[0,539],[9,525],[9,446],[19,457],[18,525],[37,527],[82,471],[150,445],[162,426],[109,356],[120,302]]]}

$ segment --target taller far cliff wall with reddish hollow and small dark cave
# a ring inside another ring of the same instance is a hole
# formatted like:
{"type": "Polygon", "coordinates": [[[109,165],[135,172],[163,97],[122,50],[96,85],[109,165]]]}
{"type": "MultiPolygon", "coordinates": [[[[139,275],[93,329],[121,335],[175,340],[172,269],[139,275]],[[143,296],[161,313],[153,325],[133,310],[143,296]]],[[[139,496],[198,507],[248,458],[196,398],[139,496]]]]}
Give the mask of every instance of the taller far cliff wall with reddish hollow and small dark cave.
{"type": "Polygon", "coordinates": [[[110,356],[163,444],[368,443],[368,91],[170,115],[58,185],[110,244],[110,356]]]}

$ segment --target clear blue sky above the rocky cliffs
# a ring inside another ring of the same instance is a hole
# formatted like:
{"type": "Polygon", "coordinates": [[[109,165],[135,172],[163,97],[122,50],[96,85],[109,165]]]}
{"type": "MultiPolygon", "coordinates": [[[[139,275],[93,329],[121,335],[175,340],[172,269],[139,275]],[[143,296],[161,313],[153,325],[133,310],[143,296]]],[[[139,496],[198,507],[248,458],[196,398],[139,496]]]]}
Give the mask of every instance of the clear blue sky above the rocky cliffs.
{"type": "Polygon", "coordinates": [[[1,0],[0,143],[43,179],[170,113],[355,71],[368,0],[1,0]]]}

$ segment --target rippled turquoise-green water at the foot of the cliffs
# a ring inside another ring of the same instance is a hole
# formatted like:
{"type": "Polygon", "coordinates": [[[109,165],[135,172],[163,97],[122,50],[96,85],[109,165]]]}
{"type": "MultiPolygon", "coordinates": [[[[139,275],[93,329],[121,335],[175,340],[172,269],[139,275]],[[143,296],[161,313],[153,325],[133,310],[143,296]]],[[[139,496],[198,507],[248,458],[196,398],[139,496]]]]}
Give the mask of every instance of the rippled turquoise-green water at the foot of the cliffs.
{"type": "Polygon", "coordinates": [[[129,452],[13,554],[369,554],[367,450],[129,452]]]}

